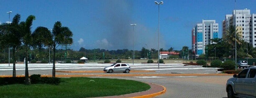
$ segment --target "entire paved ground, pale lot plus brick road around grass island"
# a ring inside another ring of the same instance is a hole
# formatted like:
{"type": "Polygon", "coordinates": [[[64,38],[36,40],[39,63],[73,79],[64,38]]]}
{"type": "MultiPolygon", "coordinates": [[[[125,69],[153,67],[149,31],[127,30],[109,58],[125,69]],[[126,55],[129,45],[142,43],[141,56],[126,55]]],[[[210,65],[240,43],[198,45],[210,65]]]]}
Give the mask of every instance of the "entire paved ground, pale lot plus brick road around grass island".
{"type": "MultiPolygon", "coordinates": [[[[56,64],[56,71],[89,71],[103,70],[104,67],[111,64],[56,64]]],[[[155,83],[166,87],[167,91],[163,95],[155,98],[226,98],[225,83],[232,75],[208,76],[210,73],[219,73],[216,68],[202,68],[202,66],[184,66],[183,64],[129,64],[132,70],[144,70],[131,73],[60,73],[56,75],[117,75],[104,76],[101,78],[119,78],[128,80],[138,80],[146,83],[155,83]],[[150,70],[150,71],[147,71],[150,70]],[[184,74],[188,76],[169,76],[157,74],[184,74]],[[193,73],[205,74],[207,76],[196,76],[193,73]],[[123,75],[132,76],[123,76],[123,75]],[[141,76],[152,74],[150,76],[141,76]],[[134,75],[134,76],[133,76],[134,75]],[[137,76],[136,76],[137,75],[137,76]]],[[[29,74],[51,75],[52,64],[28,64],[29,74]]],[[[0,64],[0,75],[12,75],[12,66],[0,64]]],[[[16,65],[17,75],[25,74],[25,65],[16,65]]],[[[94,76],[95,77],[95,76],[94,76]]],[[[97,76],[98,78],[98,76],[97,76]]]]}

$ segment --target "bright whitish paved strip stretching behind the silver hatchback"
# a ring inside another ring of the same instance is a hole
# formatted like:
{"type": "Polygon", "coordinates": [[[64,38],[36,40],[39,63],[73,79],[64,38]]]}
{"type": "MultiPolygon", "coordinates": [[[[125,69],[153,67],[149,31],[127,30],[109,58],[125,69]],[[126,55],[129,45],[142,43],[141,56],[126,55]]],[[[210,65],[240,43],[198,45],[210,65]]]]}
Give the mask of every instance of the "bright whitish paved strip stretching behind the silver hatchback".
{"type": "MultiPolygon", "coordinates": [[[[57,71],[86,71],[86,70],[103,70],[103,68],[110,66],[111,64],[61,64],[56,63],[57,71]]],[[[141,63],[129,63],[131,70],[152,70],[154,74],[165,73],[218,73],[217,68],[202,68],[202,66],[184,66],[183,64],[160,64],[159,69],[157,64],[141,64],[141,63]]],[[[13,66],[10,64],[0,64],[0,75],[12,75],[13,66]]],[[[29,74],[41,74],[51,75],[51,64],[28,64],[29,74]]],[[[16,64],[16,74],[25,74],[25,64],[16,64]]],[[[56,75],[66,74],[84,74],[84,73],[56,73],[56,75]]],[[[86,74],[104,74],[104,73],[86,73],[86,74]]],[[[147,74],[147,73],[146,73],[147,74]]]]}

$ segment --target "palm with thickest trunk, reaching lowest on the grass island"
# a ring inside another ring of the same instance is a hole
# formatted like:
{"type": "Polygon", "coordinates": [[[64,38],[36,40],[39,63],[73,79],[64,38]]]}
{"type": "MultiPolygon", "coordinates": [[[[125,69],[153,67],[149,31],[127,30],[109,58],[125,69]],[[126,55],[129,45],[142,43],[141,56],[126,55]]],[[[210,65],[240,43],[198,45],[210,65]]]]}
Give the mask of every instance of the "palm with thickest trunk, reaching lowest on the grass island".
{"type": "Polygon", "coordinates": [[[29,78],[28,78],[28,49],[33,45],[33,40],[32,40],[32,34],[31,34],[31,26],[33,20],[35,20],[35,16],[30,15],[26,19],[25,22],[21,22],[21,35],[22,35],[22,43],[26,49],[26,57],[25,57],[25,84],[28,85],[29,83],[29,78]]]}

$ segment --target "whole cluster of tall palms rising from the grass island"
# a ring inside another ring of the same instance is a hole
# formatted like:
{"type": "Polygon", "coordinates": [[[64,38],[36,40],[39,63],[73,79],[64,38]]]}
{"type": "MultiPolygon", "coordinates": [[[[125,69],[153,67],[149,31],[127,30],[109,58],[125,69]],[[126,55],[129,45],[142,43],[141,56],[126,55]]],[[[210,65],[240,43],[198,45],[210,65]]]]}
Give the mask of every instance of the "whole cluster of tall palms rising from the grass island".
{"type": "MultiPolygon", "coordinates": [[[[20,15],[16,14],[11,23],[0,25],[0,49],[11,48],[12,58],[16,60],[16,50],[23,50],[25,55],[25,84],[29,84],[28,78],[28,54],[31,49],[41,49],[44,47],[52,48],[53,69],[52,77],[55,77],[55,52],[60,45],[73,43],[73,33],[68,27],[62,27],[61,22],[54,23],[52,30],[46,27],[37,27],[31,30],[34,15],[29,15],[26,21],[20,22],[20,15]]],[[[16,77],[15,62],[13,62],[13,77],[16,77]]]]}

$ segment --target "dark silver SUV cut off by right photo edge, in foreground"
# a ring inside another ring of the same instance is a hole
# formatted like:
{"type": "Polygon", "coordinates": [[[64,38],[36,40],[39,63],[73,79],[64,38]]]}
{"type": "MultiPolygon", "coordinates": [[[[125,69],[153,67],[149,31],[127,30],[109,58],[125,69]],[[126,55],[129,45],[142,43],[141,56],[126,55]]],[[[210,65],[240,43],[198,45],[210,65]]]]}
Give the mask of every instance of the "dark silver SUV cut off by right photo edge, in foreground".
{"type": "Polygon", "coordinates": [[[256,98],[256,67],[242,70],[238,75],[228,79],[226,91],[228,98],[256,98]]]}

